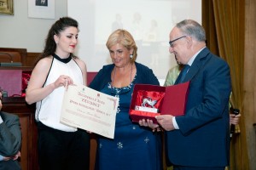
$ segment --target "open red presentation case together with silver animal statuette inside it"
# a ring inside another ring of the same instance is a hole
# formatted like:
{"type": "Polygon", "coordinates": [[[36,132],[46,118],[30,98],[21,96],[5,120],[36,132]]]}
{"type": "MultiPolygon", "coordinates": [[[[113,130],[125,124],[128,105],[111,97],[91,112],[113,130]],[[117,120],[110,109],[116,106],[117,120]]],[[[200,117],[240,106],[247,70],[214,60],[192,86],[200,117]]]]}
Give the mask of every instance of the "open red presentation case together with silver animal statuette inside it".
{"type": "Polygon", "coordinates": [[[130,117],[132,122],[151,119],[155,116],[182,116],[189,94],[189,82],[168,87],[136,84],[132,93],[130,117]]]}

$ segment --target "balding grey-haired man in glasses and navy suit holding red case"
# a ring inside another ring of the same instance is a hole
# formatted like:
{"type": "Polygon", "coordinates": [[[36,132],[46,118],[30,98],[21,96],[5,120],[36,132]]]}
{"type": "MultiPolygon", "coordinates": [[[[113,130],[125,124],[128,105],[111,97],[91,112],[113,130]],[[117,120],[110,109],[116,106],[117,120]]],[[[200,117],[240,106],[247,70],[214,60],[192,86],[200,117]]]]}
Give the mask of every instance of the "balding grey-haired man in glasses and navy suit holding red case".
{"type": "Polygon", "coordinates": [[[185,65],[175,84],[188,82],[183,116],[156,116],[166,130],[166,154],[174,170],[224,170],[230,161],[230,67],[206,47],[203,27],[183,20],[170,33],[169,51],[185,65]]]}

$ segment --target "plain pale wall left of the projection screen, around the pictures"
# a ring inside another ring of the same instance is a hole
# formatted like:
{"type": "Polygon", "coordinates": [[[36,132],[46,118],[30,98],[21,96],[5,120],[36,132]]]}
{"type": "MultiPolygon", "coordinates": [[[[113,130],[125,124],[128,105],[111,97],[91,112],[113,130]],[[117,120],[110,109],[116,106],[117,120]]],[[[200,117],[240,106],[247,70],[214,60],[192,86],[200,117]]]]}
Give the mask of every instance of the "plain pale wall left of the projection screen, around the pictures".
{"type": "MultiPolygon", "coordinates": [[[[52,0],[49,0],[52,1],[52,0]]],[[[67,0],[55,0],[55,19],[28,18],[28,0],[14,0],[14,15],[0,14],[0,47],[42,52],[50,26],[67,16],[67,0]]]]}

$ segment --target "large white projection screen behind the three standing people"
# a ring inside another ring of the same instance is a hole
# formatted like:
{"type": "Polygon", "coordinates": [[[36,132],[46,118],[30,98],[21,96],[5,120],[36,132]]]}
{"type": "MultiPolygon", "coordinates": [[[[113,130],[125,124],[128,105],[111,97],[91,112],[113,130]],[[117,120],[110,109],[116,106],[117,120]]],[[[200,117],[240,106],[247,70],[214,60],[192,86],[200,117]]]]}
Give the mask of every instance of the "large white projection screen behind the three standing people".
{"type": "Polygon", "coordinates": [[[112,63],[105,43],[119,14],[123,24],[119,28],[130,31],[137,42],[137,62],[153,69],[161,81],[177,65],[169,53],[169,33],[184,19],[201,23],[201,0],[67,0],[67,14],[79,21],[76,53],[88,71],[99,71],[102,65],[112,63]],[[139,24],[133,22],[135,14],[141,16],[139,24]],[[150,29],[153,20],[157,26],[150,29]]]}

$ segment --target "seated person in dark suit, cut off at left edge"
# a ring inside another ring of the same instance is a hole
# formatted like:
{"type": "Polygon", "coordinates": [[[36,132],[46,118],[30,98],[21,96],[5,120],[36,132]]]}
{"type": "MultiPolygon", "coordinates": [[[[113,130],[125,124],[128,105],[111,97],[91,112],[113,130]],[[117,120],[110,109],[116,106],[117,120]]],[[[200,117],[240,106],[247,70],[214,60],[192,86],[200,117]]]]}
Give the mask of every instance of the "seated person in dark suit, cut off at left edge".
{"type": "Polygon", "coordinates": [[[20,170],[17,161],[21,144],[20,120],[18,116],[1,111],[1,99],[0,92],[0,169],[20,170]]]}

